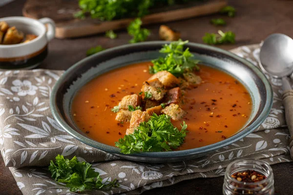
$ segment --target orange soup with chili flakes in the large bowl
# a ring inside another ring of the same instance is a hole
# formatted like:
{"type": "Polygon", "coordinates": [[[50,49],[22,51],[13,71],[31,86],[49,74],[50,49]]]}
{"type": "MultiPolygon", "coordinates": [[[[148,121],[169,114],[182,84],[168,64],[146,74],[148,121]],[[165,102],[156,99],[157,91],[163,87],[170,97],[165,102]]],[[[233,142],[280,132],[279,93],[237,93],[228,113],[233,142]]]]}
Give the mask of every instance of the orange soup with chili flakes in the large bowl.
{"type": "MultiPolygon", "coordinates": [[[[118,123],[111,109],[126,95],[138,94],[151,75],[143,62],[115,69],[88,82],[75,96],[72,115],[78,127],[92,139],[115,146],[124,137],[129,123],[118,123]]],[[[248,91],[235,78],[201,65],[196,73],[202,83],[187,90],[188,125],[185,142],[178,150],[206,146],[231,137],[248,121],[252,101],[248,91]]],[[[180,127],[182,121],[173,124],[180,127]]],[[[181,129],[181,128],[179,128],[181,129]]]]}

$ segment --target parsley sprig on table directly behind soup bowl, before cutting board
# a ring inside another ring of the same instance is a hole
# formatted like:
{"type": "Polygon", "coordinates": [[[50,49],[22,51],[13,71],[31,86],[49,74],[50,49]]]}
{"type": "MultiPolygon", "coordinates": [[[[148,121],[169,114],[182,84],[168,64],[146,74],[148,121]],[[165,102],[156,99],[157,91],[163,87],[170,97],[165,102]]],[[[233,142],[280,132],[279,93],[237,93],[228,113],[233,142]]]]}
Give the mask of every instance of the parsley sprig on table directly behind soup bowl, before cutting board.
{"type": "Polygon", "coordinates": [[[142,20],[139,18],[133,20],[127,27],[127,32],[133,38],[129,40],[130,43],[142,42],[147,39],[150,32],[146,28],[141,28],[142,20]]]}

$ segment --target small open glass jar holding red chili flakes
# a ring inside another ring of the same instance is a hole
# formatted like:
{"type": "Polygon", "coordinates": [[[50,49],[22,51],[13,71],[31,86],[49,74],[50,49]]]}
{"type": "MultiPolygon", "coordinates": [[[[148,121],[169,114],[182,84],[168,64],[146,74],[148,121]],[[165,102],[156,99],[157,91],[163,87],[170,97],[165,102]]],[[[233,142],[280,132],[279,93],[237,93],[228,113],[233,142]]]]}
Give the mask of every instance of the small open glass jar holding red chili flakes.
{"type": "Polygon", "coordinates": [[[255,159],[235,160],[226,169],[223,195],[273,195],[273,183],[272,168],[267,162],[255,159]],[[232,177],[235,173],[247,170],[255,171],[267,178],[257,182],[243,182],[232,177]]]}

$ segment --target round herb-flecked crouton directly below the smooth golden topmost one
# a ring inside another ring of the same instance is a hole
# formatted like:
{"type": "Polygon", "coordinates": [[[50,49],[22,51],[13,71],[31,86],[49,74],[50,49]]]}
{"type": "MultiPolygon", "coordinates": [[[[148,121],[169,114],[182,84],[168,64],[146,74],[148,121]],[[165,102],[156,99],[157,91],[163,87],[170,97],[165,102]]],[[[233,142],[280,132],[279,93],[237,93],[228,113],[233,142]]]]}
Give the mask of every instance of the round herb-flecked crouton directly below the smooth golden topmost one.
{"type": "Polygon", "coordinates": [[[160,100],[164,98],[166,90],[160,80],[158,78],[154,78],[143,83],[142,92],[144,92],[145,95],[146,93],[151,94],[149,99],[160,100]]]}

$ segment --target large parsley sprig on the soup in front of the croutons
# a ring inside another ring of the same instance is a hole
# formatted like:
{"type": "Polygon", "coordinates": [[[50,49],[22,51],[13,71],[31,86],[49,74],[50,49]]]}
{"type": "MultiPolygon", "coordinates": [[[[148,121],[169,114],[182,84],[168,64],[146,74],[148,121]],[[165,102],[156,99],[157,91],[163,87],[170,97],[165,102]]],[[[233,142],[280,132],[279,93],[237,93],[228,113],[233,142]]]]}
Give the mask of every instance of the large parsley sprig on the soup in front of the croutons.
{"type": "Polygon", "coordinates": [[[133,134],[120,138],[115,144],[124,154],[176,149],[185,140],[187,124],[183,121],[179,131],[170,119],[167,115],[157,116],[154,113],[147,122],[140,123],[133,134]]]}

